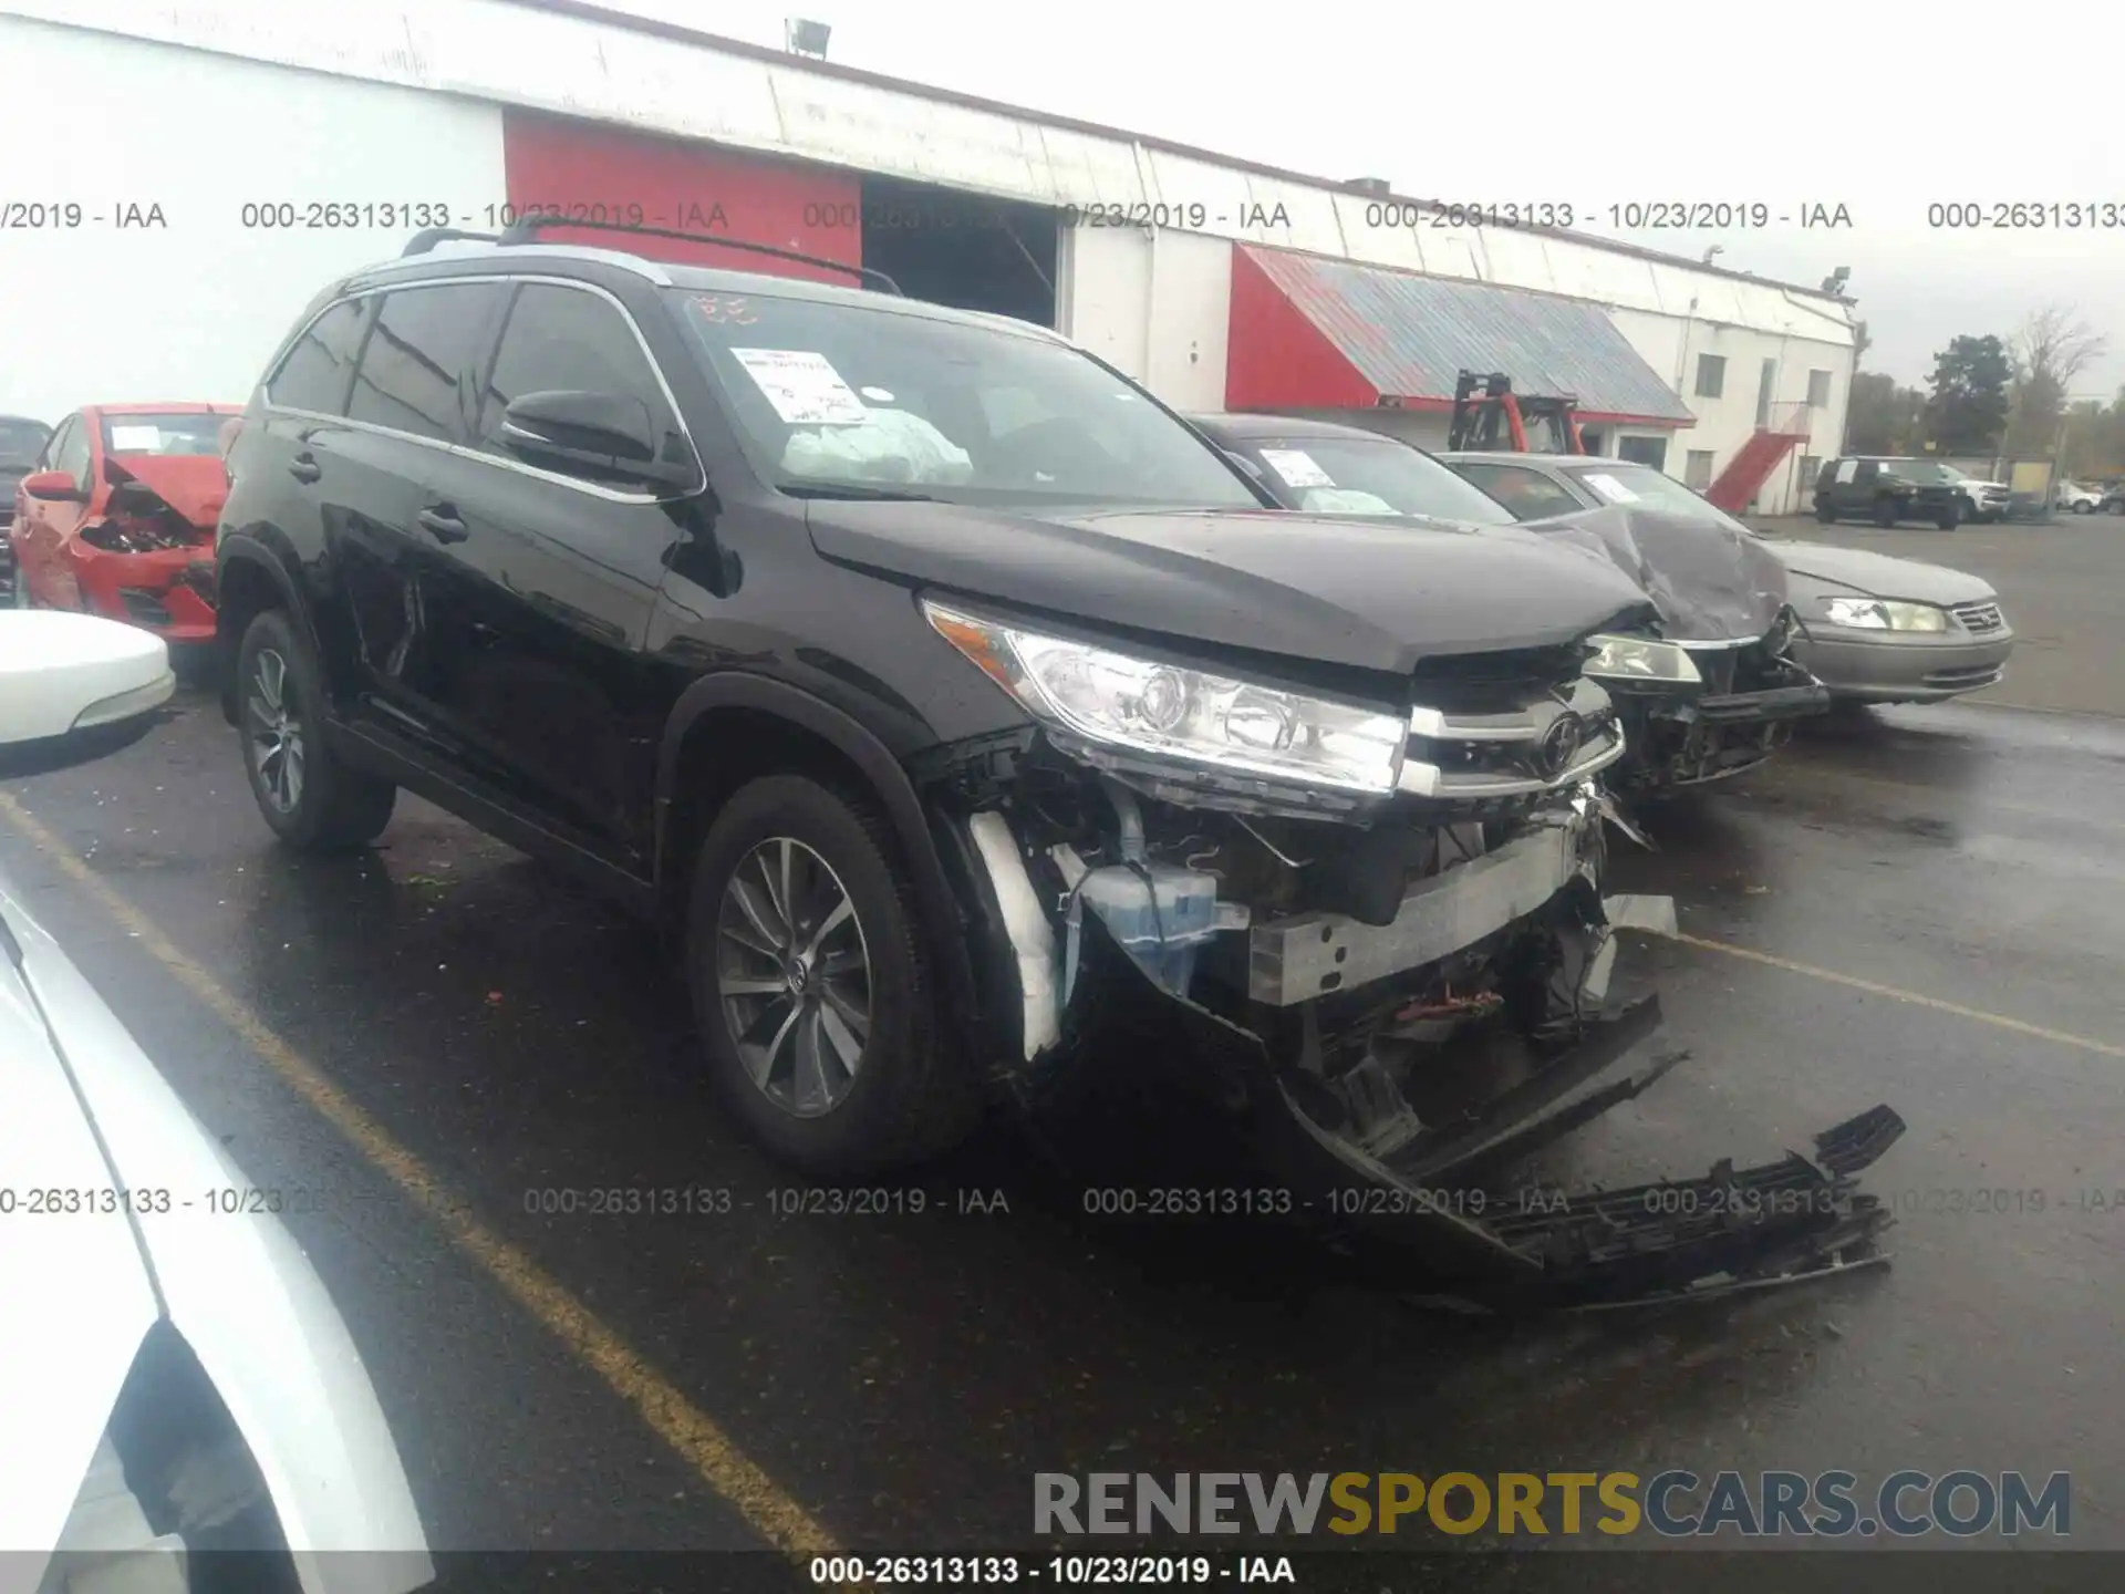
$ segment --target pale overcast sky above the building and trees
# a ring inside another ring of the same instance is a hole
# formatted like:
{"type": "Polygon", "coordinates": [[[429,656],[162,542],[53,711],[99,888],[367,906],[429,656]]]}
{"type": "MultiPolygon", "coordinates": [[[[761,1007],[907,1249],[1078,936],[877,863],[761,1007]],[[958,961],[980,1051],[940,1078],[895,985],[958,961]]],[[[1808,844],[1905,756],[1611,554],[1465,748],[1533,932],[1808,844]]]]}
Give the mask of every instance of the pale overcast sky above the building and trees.
{"type": "MultiPolygon", "coordinates": [[[[1566,202],[1581,225],[1645,200],[1764,202],[1774,217],[1844,204],[1853,225],[1838,232],[1630,236],[1692,259],[1717,242],[1721,266],[1806,285],[1849,266],[1872,336],[1864,363],[1900,380],[1923,383],[1955,334],[2010,336],[2057,302],[2112,342],[2076,393],[2125,383],[2125,170],[2106,77],[2125,23],[2108,6],[2023,0],[2019,49],[2000,13],[1987,40],[1881,0],[604,4],[776,47],[784,17],[812,17],[848,66],[1300,172],[1386,176],[1417,198],[1566,202]],[[2012,200],[2112,204],[2116,225],[1927,227],[1934,202],[2012,200]]],[[[1590,230],[1617,232],[1606,217],[1590,230]]]]}

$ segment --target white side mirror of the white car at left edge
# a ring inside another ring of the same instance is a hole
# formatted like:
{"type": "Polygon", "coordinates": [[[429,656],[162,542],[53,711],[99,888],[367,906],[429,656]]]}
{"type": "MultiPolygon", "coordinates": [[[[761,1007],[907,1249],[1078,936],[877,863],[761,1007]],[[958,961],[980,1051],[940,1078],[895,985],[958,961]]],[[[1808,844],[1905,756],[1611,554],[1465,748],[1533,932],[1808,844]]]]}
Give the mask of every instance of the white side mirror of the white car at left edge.
{"type": "Polygon", "coordinates": [[[176,691],[170,644],[96,614],[0,610],[0,774],[87,763],[176,691]]]}

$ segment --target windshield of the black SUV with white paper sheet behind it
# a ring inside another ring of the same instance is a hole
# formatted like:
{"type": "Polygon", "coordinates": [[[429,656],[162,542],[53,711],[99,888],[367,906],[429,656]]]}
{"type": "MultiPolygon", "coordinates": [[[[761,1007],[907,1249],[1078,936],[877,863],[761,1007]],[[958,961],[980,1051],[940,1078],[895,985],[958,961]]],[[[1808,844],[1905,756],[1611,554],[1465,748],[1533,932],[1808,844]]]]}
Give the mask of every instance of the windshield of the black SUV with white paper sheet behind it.
{"type": "Polygon", "coordinates": [[[1145,393],[1035,332],[669,289],[754,461],[790,493],[1262,508],[1145,393]]]}

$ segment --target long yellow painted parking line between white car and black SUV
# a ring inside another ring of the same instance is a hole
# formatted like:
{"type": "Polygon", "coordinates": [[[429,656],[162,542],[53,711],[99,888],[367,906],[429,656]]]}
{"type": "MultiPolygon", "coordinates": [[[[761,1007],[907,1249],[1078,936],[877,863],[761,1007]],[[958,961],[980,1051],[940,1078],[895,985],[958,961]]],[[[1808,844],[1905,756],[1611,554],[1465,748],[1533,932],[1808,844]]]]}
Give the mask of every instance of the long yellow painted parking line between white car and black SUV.
{"type": "Polygon", "coordinates": [[[678,1386],[608,1328],[597,1313],[570,1294],[525,1252],[487,1228],[472,1209],[421,1165],[412,1152],[370,1118],[344,1090],[308,1058],[280,1039],[251,1007],[232,997],[206,969],[181,952],[155,920],[110,888],[72,848],[0,791],[0,816],[36,842],[53,863],[74,878],[123,925],[223,1024],[242,1035],[259,1061],[278,1073],[310,1107],[338,1129],[391,1184],[421,1207],[450,1243],[480,1265],[514,1301],[561,1339],[593,1373],[627,1401],[657,1435],[701,1475],[710,1490],[729,1500],[754,1532],[793,1556],[839,1554],[833,1537],[763,1473],[737,1443],[678,1386]]]}

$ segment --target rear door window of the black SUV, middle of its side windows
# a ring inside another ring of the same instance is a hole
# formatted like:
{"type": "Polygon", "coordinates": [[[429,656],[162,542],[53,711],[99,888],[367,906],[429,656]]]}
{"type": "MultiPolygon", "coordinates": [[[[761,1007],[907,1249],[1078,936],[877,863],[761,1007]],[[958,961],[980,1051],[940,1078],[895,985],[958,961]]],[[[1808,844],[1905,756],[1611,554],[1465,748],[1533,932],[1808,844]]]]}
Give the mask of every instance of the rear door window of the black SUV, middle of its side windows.
{"type": "Polygon", "coordinates": [[[361,349],[348,419],[461,442],[463,395],[499,295],[495,283],[423,283],[385,293],[361,349]]]}

